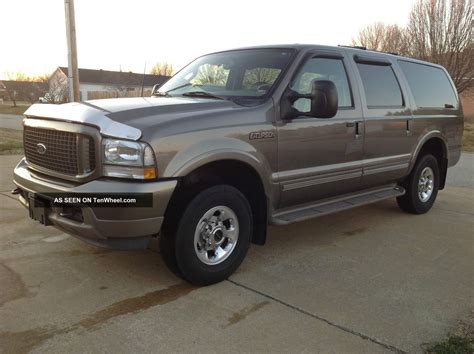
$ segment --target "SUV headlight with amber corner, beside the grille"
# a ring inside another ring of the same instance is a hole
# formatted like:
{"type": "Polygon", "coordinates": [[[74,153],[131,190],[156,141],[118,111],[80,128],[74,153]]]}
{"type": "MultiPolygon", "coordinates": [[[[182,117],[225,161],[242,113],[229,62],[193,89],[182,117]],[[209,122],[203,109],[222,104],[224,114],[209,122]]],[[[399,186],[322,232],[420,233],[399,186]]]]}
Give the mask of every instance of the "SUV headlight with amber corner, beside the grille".
{"type": "Polygon", "coordinates": [[[149,145],[136,141],[104,139],[102,146],[105,176],[156,178],[154,153],[149,145]]]}

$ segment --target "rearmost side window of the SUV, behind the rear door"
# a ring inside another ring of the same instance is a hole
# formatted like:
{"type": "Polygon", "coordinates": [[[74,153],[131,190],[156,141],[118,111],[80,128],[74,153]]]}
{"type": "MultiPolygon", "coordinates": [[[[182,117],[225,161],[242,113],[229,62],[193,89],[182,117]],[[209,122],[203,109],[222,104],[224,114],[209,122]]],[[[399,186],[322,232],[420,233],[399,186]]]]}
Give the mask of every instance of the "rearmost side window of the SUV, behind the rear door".
{"type": "Polygon", "coordinates": [[[446,73],[440,68],[398,61],[418,108],[457,107],[458,101],[446,73]]]}

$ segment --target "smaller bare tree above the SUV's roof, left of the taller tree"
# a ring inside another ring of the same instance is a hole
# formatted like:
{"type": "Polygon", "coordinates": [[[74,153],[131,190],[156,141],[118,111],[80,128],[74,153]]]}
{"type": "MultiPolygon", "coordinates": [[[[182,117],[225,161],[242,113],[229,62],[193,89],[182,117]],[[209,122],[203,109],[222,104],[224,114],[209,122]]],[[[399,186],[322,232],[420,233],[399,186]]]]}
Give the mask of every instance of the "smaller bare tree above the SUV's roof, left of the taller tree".
{"type": "Polygon", "coordinates": [[[380,52],[407,54],[408,44],[405,29],[398,25],[376,22],[362,29],[352,45],[380,52]]]}

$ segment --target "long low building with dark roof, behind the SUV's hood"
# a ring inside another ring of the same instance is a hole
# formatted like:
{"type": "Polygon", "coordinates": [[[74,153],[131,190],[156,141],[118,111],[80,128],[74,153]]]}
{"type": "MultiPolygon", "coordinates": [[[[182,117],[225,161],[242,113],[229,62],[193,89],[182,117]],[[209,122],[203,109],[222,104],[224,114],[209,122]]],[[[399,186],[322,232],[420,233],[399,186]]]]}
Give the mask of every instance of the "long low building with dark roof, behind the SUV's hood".
{"type": "MultiPolygon", "coordinates": [[[[68,68],[58,67],[50,77],[50,87],[57,83],[67,85],[68,68]]],[[[123,71],[79,69],[79,91],[81,101],[109,98],[149,95],[156,84],[163,84],[169,76],[136,74],[123,71]]]]}

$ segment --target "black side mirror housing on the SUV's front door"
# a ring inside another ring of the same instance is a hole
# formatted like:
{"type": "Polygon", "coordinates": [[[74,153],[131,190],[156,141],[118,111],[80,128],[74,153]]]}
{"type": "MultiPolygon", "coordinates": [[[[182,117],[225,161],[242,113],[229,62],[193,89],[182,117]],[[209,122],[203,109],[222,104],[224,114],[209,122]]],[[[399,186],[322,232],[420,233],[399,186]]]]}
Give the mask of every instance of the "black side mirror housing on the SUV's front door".
{"type": "Polygon", "coordinates": [[[338,98],[334,82],[314,80],[311,89],[311,115],[316,118],[332,118],[337,113],[338,98]]]}

